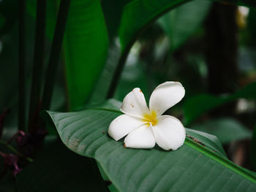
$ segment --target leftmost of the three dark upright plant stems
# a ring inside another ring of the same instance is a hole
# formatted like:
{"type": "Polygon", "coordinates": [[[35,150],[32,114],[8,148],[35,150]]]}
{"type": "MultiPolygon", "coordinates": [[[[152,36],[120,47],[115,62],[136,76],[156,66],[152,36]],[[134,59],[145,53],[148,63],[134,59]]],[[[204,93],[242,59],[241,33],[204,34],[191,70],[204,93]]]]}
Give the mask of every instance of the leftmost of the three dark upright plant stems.
{"type": "Polygon", "coordinates": [[[18,129],[25,131],[25,10],[26,0],[19,1],[19,101],[18,129]]]}

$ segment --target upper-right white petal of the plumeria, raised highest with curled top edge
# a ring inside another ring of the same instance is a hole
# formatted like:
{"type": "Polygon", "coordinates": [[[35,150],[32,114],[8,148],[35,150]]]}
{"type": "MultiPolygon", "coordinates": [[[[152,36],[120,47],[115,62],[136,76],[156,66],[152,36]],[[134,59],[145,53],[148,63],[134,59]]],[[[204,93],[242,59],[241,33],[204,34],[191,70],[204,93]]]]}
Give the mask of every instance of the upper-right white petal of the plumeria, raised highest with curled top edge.
{"type": "Polygon", "coordinates": [[[149,109],[162,115],[166,110],[177,104],[185,95],[184,87],[180,82],[164,82],[157,86],[151,94],[149,109]]]}

